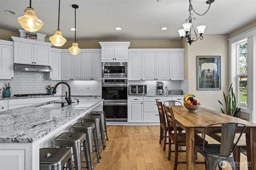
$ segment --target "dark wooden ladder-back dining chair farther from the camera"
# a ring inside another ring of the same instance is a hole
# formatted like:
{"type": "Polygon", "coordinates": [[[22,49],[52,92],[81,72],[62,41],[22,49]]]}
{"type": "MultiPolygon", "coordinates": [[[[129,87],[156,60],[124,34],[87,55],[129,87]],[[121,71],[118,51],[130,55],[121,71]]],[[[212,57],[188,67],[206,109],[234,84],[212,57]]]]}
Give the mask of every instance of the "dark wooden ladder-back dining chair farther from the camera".
{"type": "MultiPolygon", "coordinates": [[[[159,118],[160,118],[160,139],[159,139],[159,143],[161,144],[162,139],[164,139],[164,151],[165,151],[166,144],[168,144],[166,142],[167,133],[168,133],[168,125],[167,125],[166,116],[165,116],[165,113],[164,113],[164,107],[162,105],[162,102],[160,102],[159,100],[156,100],[156,104],[157,104],[157,107],[158,107],[159,118]]],[[[170,125],[170,126],[172,127],[172,125],[170,125]]],[[[177,127],[177,129],[178,129],[178,131],[183,130],[181,127],[177,127]]],[[[171,128],[170,130],[173,131],[173,128],[171,128]]]]}

